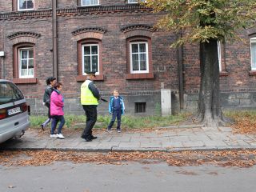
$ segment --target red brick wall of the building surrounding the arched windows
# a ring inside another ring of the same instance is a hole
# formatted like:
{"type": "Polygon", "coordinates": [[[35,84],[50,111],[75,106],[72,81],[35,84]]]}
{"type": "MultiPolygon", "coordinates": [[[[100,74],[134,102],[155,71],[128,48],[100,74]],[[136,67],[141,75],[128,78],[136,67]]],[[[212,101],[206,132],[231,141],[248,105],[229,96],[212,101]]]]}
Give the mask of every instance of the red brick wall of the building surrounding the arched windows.
{"type": "MultiPolygon", "coordinates": [[[[125,5],[125,1],[101,1],[101,5],[125,5]]],[[[11,11],[10,2],[1,1],[0,10],[11,11]]],[[[59,0],[58,7],[76,6],[76,1],[59,0]]],[[[35,1],[38,10],[51,6],[51,1],[35,1]]],[[[82,9],[82,8],[81,8],[82,9]]],[[[164,88],[178,91],[178,63],[175,49],[170,49],[175,35],[162,31],[151,33],[152,63],[154,78],[127,80],[126,79],[126,35],[121,31],[123,26],[131,24],[146,24],[154,26],[160,15],[147,11],[110,11],[98,14],[58,14],[58,80],[63,82],[66,94],[78,94],[82,82],[77,82],[78,55],[77,40],[72,32],[85,27],[98,27],[106,30],[102,36],[102,70],[103,81],[98,81],[100,90],[110,92],[118,88],[121,92],[139,90],[159,90],[164,88]]],[[[52,66],[52,23],[50,14],[41,18],[14,17],[0,19],[0,47],[5,45],[6,78],[13,78],[13,46],[14,40],[8,35],[18,31],[32,31],[40,34],[35,39],[37,84],[21,84],[19,87],[26,95],[36,95],[41,98],[45,79],[53,74],[52,66]],[[4,34],[2,30],[4,29],[4,34]]],[[[221,77],[221,89],[256,88],[256,76],[250,76],[250,43],[246,33],[242,38],[247,39],[248,45],[241,43],[226,43],[227,76],[221,77]]],[[[199,46],[186,45],[183,47],[184,88],[187,92],[198,90],[200,86],[199,46]]]]}

